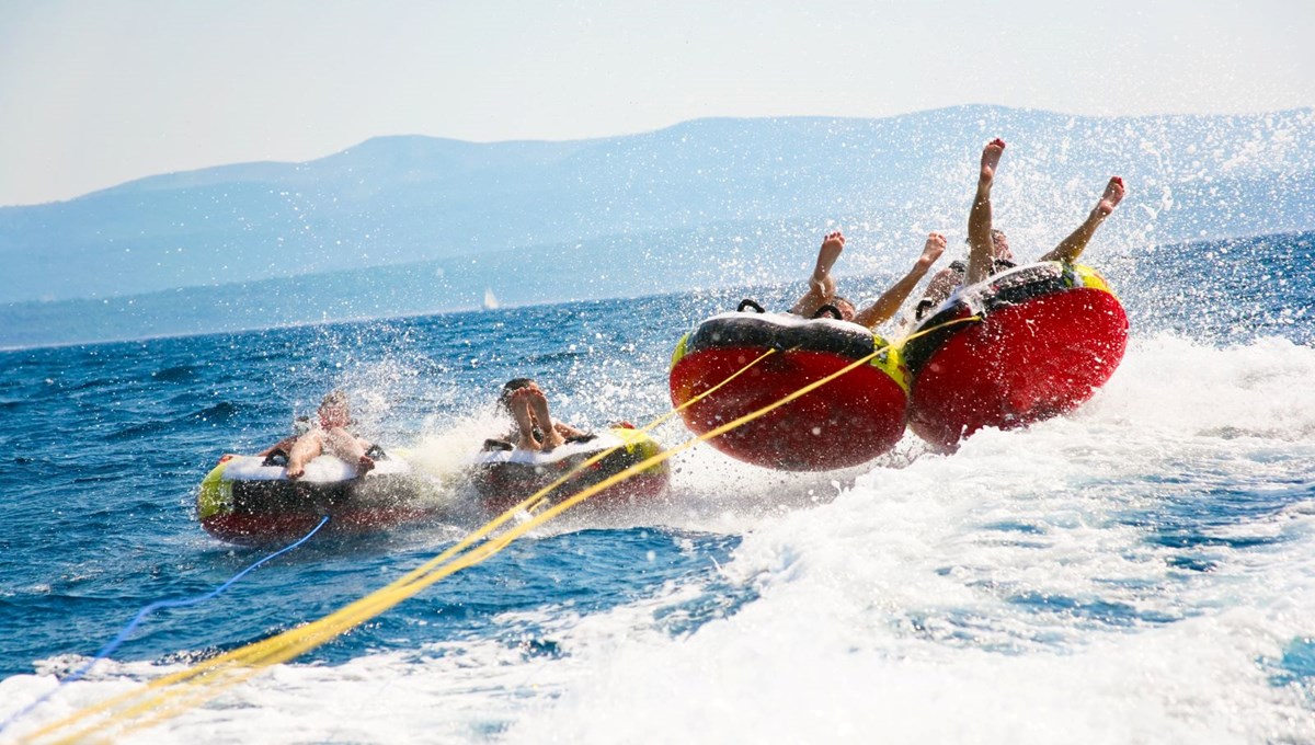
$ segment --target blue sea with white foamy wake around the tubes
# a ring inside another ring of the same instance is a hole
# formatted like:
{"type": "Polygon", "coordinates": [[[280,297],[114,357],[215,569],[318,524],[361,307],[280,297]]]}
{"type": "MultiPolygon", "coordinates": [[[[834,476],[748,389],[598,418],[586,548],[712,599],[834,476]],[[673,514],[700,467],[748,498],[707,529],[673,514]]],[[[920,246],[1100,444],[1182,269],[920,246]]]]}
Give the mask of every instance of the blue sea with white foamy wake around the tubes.
{"type": "MultiPolygon", "coordinates": [[[[840,474],[696,447],[669,499],[568,515],[134,737],[1315,740],[1315,234],[1090,259],[1132,343],[1073,417],[953,456],[909,435],[840,474]]],[[[0,717],[142,606],[264,556],[200,528],[197,484],[330,388],[451,507],[312,539],[160,611],[7,734],[318,619],[451,545],[479,524],[460,468],[501,427],[504,380],[537,377],[577,426],[646,423],[669,409],[681,332],[797,290],[0,352],[0,717]]]]}

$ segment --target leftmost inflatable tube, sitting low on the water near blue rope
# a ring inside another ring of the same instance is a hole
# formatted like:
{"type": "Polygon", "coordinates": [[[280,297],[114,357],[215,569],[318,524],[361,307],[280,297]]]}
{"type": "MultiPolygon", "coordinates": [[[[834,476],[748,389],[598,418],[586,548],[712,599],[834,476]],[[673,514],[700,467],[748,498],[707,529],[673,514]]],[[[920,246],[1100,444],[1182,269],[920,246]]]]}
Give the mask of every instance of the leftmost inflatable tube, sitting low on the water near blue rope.
{"type": "Polygon", "coordinates": [[[421,480],[410,465],[375,448],[373,470],[358,477],[351,464],[321,455],[305,474],[289,481],[287,469],[259,456],[226,455],[201,481],[196,512],[220,540],[241,545],[293,541],[327,515],[323,533],[362,535],[429,518],[421,480]]]}

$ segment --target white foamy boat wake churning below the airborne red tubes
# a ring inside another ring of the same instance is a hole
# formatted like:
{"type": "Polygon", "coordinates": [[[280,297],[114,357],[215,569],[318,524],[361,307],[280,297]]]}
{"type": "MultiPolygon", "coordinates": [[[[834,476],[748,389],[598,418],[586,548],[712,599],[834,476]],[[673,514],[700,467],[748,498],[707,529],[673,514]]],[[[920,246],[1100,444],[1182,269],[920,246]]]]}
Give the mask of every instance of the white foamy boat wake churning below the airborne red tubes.
{"type": "MultiPolygon", "coordinates": [[[[1315,686],[1281,661],[1315,636],[1312,380],[1308,347],[1157,336],[1073,417],[953,456],[782,476],[700,447],[629,519],[742,535],[714,579],[279,666],[129,741],[1311,741],[1315,686]],[[659,620],[726,594],[693,631],[659,620]],[[530,627],[556,652],[509,644],[530,627]]],[[[0,715],[49,685],[0,682],[0,715]]]]}

